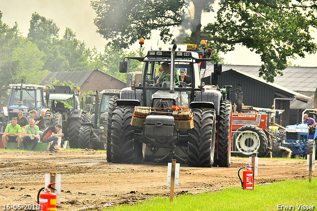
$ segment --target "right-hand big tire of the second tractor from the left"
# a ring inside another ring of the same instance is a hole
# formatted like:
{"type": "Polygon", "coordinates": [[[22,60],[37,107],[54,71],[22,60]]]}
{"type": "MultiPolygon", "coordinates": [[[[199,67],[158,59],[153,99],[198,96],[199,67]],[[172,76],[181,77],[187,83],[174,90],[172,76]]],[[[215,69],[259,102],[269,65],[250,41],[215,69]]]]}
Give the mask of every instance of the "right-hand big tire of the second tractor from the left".
{"type": "Polygon", "coordinates": [[[84,122],[85,115],[81,114],[80,118],[68,118],[68,141],[70,148],[78,148],[79,129],[84,122]]]}

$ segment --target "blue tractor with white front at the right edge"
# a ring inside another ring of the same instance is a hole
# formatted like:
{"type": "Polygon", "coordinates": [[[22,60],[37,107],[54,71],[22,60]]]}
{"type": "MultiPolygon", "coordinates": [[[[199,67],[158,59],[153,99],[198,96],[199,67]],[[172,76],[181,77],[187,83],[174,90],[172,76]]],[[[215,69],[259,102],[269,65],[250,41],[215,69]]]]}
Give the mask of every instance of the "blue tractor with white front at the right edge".
{"type": "Polygon", "coordinates": [[[316,137],[317,130],[310,131],[307,124],[288,125],[282,144],[292,151],[292,158],[307,158],[309,154],[316,156],[316,137]]]}

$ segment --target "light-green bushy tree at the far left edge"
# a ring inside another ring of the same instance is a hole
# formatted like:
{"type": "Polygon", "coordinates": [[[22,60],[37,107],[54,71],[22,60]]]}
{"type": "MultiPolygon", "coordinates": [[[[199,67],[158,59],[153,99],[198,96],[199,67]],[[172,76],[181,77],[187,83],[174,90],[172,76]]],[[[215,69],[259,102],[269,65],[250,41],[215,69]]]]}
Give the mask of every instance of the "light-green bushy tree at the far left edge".
{"type": "Polygon", "coordinates": [[[2,22],[0,12],[0,89],[6,97],[9,84],[37,84],[45,72],[41,72],[43,53],[37,46],[21,36],[17,24],[10,28],[2,22]]]}

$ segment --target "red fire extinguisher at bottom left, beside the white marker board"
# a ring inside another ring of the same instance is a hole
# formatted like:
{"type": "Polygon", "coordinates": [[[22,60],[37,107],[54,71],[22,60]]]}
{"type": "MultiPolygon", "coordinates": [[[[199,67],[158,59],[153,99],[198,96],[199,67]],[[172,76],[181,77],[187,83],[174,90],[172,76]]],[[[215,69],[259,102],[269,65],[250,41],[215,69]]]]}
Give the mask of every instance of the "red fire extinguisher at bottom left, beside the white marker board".
{"type": "Polygon", "coordinates": [[[56,210],[56,194],[51,192],[50,189],[56,190],[52,187],[53,182],[49,184],[47,187],[43,187],[40,189],[38,193],[38,203],[40,205],[40,211],[55,211],[56,210]],[[44,192],[42,192],[44,190],[44,192]]]}

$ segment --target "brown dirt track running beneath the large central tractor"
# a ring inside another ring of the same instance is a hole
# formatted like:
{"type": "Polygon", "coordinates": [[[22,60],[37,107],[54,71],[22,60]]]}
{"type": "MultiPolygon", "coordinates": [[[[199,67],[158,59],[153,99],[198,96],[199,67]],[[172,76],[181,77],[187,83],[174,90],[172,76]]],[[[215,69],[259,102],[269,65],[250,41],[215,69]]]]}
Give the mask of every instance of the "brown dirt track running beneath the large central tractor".
{"type": "MultiPolygon", "coordinates": [[[[248,158],[231,158],[229,168],[195,168],[181,165],[175,194],[210,192],[238,187],[237,171],[248,158]]],[[[59,210],[109,206],[168,196],[165,164],[115,164],[106,161],[106,153],[97,152],[0,152],[1,206],[36,204],[44,186],[44,174],[61,174],[59,210]]],[[[313,176],[317,176],[313,171],[313,176]]],[[[259,160],[256,184],[308,178],[306,160],[259,160]]],[[[2,208],[3,209],[3,208],[2,208]]]]}

